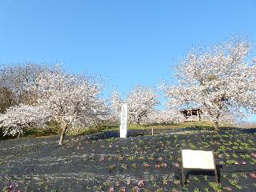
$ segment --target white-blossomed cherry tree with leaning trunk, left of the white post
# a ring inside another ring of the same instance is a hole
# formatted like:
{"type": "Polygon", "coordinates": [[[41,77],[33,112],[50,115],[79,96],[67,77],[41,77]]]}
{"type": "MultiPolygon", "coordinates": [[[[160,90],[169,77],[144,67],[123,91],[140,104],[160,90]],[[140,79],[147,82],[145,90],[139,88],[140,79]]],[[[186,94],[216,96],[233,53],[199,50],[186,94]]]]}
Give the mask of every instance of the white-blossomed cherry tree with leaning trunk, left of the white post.
{"type": "Polygon", "coordinates": [[[105,118],[102,88],[88,77],[67,74],[58,66],[54,72],[41,74],[31,88],[38,94],[38,105],[45,106],[50,120],[62,127],[59,145],[74,127],[91,126],[105,118]]]}

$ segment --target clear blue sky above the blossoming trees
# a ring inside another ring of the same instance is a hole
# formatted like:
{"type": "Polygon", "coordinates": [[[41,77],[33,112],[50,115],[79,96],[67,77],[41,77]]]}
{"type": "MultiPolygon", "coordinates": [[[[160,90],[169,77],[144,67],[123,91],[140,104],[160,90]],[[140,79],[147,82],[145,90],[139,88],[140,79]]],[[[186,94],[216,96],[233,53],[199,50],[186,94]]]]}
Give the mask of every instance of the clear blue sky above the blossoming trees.
{"type": "Polygon", "coordinates": [[[1,0],[0,63],[62,62],[122,93],[173,81],[192,46],[256,38],[256,1],[1,0]]]}

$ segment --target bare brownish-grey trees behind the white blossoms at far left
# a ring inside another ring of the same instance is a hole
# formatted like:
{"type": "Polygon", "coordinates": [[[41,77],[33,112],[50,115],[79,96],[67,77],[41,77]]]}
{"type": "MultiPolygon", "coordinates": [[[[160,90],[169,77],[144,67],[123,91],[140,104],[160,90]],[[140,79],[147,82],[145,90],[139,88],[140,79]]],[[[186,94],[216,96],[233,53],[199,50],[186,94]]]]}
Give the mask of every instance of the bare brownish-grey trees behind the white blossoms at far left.
{"type": "Polygon", "coordinates": [[[23,63],[0,66],[0,107],[2,112],[9,106],[34,103],[34,93],[26,89],[28,84],[34,84],[38,75],[50,71],[51,66],[34,63],[23,63]]]}

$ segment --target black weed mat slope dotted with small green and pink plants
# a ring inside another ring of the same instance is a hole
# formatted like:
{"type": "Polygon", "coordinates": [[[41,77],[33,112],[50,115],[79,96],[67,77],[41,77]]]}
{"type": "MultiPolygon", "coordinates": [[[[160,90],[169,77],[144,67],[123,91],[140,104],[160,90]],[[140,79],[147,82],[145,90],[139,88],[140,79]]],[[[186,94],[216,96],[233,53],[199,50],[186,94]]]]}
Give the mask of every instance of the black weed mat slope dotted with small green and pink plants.
{"type": "Polygon", "coordinates": [[[0,191],[256,191],[256,133],[226,129],[131,130],[0,142],[0,191]],[[185,131],[185,132],[184,132],[185,131]],[[221,184],[188,172],[181,186],[180,149],[214,150],[221,184]]]}

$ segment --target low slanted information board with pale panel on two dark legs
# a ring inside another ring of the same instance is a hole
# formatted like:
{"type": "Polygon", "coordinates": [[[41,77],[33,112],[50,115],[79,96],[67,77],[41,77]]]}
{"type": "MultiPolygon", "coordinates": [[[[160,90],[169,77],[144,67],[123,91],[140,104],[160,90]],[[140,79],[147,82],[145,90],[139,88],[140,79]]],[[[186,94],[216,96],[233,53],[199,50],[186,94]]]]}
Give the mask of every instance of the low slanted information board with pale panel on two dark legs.
{"type": "Polygon", "coordinates": [[[218,182],[216,163],[213,151],[182,150],[182,184],[185,184],[184,170],[213,170],[215,180],[218,182]]]}

